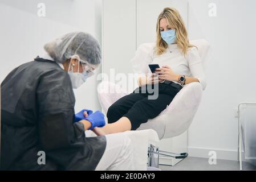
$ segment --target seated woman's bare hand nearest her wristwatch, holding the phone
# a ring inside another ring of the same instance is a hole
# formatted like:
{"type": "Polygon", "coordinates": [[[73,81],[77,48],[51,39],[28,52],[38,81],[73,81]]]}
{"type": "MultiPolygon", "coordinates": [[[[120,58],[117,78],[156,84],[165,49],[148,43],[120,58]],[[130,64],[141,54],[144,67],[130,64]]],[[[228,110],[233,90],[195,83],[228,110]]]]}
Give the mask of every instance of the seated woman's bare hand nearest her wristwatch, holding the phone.
{"type": "Polygon", "coordinates": [[[174,73],[172,68],[166,65],[156,68],[156,73],[159,73],[159,80],[178,81],[178,74],[174,73]]]}

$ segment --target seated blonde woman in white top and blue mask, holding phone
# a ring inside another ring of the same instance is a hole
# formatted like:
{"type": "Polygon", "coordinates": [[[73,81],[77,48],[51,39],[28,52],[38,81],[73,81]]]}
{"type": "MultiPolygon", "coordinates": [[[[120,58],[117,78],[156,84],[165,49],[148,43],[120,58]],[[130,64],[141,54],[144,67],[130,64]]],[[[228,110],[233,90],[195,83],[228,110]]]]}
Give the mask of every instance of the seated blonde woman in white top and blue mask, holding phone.
{"type": "Polygon", "coordinates": [[[156,32],[155,45],[141,44],[132,61],[137,62],[136,65],[140,65],[139,61],[159,64],[160,68],[149,75],[148,66],[135,68],[143,75],[138,80],[140,87],[109,107],[109,124],[96,128],[99,135],[136,130],[141,123],[157,117],[166,109],[186,84],[200,82],[205,89],[206,80],[197,47],[189,43],[185,24],[176,9],[166,7],[160,13],[156,32]],[[148,98],[148,85],[159,88],[159,96],[155,100],[148,98]],[[146,90],[146,93],[141,93],[141,90],[146,90]]]}

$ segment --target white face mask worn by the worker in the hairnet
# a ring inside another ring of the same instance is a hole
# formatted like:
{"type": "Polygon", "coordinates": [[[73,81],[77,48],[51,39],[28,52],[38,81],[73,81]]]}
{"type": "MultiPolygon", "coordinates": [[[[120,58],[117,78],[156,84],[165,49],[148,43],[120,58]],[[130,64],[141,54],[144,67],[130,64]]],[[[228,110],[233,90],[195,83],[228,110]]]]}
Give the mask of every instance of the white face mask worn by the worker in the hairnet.
{"type": "MultiPolygon", "coordinates": [[[[70,63],[71,65],[71,63],[70,63]]],[[[70,65],[68,67],[68,70],[70,70],[70,65]]],[[[86,82],[86,79],[92,75],[94,75],[94,72],[89,72],[84,70],[83,73],[79,73],[79,65],[80,60],[78,59],[78,72],[73,72],[73,67],[71,67],[71,71],[68,71],[68,75],[70,75],[70,80],[72,83],[72,88],[77,89],[79,86],[81,86],[84,82],[86,82]]]]}

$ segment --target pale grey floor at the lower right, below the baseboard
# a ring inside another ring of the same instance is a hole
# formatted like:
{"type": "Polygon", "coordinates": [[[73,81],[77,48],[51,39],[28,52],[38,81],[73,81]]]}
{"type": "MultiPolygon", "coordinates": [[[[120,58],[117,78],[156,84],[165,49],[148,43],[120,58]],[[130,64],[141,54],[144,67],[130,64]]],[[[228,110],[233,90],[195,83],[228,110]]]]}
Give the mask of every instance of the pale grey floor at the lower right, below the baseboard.
{"type": "MultiPolygon", "coordinates": [[[[238,171],[239,163],[234,160],[217,160],[217,164],[210,165],[206,158],[188,157],[175,166],[159,166],[163,171],[238,171]]],[[[256,171],[256,166],[243,162],[242,169],[256,171]]]]}

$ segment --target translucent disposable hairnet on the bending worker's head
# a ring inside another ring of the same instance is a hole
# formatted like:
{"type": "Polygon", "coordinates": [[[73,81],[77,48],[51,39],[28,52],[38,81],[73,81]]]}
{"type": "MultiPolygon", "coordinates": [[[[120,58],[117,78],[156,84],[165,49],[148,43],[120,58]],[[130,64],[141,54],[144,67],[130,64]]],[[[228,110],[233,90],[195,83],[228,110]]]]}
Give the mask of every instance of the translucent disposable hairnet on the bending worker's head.
{"type": "Polygon", "coordinates": [[[101,62],[100,45],[85,32],[71,32],[44,45],[44,50],[56,62],[64,63],[73,55],[78,55],[82,63],[99,65],[101,62]]]}

